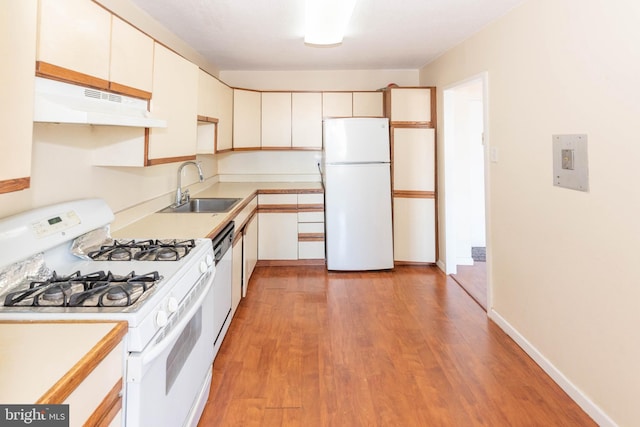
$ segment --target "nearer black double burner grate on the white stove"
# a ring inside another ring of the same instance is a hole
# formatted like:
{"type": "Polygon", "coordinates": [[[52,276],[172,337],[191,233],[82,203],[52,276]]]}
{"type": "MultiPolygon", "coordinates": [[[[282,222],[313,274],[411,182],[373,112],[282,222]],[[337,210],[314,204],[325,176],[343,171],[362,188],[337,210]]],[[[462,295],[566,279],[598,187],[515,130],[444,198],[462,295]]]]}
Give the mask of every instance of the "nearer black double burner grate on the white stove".
{"type": "Polygon", "coordinates": [[[138,275],[131,272],[117,276],[97,271],[81,275],[76,272],[58,277],[54,272],[47,281],[32,282],[28,289],[12,292],[5,306],[126,307],[135,304],[162,276],[157,271],[138,275]]]}

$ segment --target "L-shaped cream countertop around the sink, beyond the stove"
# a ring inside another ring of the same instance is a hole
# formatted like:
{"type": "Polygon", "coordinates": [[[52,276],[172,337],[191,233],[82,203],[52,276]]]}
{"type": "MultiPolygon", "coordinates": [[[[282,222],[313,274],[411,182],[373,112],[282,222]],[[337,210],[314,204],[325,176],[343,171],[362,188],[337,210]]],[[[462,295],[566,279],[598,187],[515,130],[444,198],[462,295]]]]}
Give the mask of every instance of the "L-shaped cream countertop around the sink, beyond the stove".
{"type": "Polygon", "coordinates": [[[198,193],[196,197],[242,198],[227,213],[151,213],[112,233],[116,238],[193,239],[213,237],[256,195],[269,192],[322,192],[319,182],[223,182],[198,193]]]}

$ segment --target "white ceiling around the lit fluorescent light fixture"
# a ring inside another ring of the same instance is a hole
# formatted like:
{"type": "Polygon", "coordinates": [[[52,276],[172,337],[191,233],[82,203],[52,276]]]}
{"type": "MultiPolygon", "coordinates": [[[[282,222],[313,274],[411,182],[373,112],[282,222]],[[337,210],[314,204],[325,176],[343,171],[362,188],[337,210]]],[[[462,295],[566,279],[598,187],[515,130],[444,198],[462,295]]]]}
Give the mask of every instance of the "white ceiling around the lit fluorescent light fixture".
{"type": "Polygon", "coordinates": [[[336,47],[304,44],[303,0],[132,0],[220,70],[418,69],[523,0],[359,0],[336,47]]]}

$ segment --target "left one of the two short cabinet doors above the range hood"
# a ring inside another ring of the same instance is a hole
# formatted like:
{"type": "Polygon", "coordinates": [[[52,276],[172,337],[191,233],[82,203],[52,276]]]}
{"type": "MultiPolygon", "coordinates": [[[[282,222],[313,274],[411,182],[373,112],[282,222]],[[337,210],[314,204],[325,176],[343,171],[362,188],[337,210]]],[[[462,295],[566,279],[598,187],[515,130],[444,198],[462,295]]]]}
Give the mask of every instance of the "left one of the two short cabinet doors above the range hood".
{"type": "Polygon", "coordinates": [[[87,0],[40,0],[37,59],[105,82],[111,13],[87,0]]]}

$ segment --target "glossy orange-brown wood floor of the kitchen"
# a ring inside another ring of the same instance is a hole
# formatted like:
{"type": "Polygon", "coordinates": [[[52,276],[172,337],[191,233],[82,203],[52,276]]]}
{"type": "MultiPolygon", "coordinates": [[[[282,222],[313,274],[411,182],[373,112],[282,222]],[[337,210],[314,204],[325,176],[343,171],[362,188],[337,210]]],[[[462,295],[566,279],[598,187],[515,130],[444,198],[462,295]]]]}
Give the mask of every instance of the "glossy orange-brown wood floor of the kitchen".
{"type": "Polygon", "coordinates": [[[203,426],[592,426],[436,268],[256,269],[203,426]]]}

